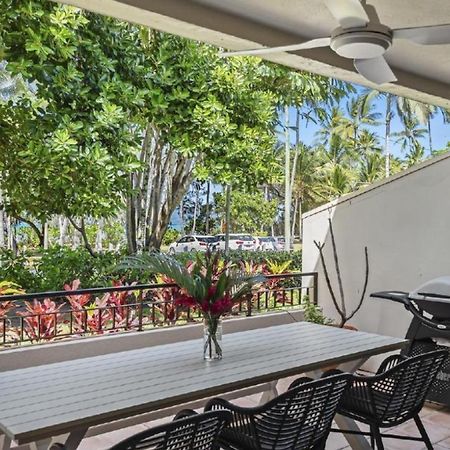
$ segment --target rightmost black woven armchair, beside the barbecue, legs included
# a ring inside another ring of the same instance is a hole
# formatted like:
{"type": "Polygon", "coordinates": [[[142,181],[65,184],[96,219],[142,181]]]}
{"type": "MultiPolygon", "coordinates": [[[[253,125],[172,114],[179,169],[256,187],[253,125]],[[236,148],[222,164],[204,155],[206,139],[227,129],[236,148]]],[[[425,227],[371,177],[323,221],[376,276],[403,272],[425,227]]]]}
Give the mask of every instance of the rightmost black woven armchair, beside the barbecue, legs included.
{"type": "MultiPolygon", "coordinates": [[[[445,358],[446,350],[439,350],[413,358],[394,355],[387,358],[377,374],[370,377],[353,376],[351,388],[344,394],[338,412],[370,426],[370,432],[345,431],[370,436],[372,448],[383,450],[383,437],[422,441],[427,449],[433,446],[419,417],[426,395],[445,358]],[[420,437],[405,437],[381,433],[414,419],[420,437]]],[[[335,430],[343,432],[344,430],[335,430]]]]}

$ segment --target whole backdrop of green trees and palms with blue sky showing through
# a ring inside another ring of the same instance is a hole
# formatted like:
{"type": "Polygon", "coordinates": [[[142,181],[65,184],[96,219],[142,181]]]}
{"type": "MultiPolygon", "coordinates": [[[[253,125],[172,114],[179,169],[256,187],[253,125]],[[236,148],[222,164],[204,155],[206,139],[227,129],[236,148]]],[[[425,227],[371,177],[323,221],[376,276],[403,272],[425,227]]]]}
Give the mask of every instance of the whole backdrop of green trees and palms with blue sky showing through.
{"type": "Polygon", "coordinates": [[[300,236],[305,210],[441,150],[434,106],[49,0],[2,6],[0,247],[14,253],[159,249],[174,217],[180,233],[286,221],[300,236]]]}

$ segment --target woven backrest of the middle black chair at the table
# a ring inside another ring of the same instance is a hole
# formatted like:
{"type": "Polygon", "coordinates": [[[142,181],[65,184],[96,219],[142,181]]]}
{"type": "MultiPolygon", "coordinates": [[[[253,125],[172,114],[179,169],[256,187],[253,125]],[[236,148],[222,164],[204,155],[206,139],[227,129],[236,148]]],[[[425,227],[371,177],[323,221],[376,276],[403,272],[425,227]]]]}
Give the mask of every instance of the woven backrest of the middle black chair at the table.
{"type": "Polygon", "coordinates": [[[350,380],[343,374],[304,383],[258,408],[251,426],[259,447],[307,450],[325,442],[350,380]]]}

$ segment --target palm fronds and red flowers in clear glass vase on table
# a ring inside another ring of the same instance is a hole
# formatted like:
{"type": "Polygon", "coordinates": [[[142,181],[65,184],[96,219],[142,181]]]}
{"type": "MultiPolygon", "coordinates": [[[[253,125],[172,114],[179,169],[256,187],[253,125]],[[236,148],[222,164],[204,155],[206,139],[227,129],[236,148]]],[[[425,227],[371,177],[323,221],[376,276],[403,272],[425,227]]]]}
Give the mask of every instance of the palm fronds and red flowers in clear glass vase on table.
{"type": "Polygon", "coordinates": [[[195,308],[203,316],[203,357],[206,360],[222,359],[223,315],[230,313],[236,303],[251,293],[255,284],[265,280],[261,274],[249,275],[236,270],[232,264],[222,260],[219,253],[209,251],[204,257],[197,255],[188,267],[162,253],[130,256],[123,266],[165,275],[181,288],[174,299],[175,304],[195,308]]]}

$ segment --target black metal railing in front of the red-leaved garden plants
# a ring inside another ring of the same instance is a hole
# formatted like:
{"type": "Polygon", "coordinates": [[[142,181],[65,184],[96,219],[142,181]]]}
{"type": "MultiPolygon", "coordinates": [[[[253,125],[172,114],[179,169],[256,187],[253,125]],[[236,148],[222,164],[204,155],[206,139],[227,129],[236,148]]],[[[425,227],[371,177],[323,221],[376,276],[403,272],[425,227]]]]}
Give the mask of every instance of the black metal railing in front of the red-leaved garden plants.
{"type": "MultiPolygon", "coordinates": [[[[165,283],[4,295],[0,297],[0,346],[201,320],[195,308],[176,306],[178,294],[176,284],[165,283]]],[[[299,307],[306,296],[317,304],[317,272],[267,275],[263,285],[242,299],[231,315],[299,307]]]]}

